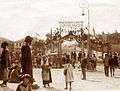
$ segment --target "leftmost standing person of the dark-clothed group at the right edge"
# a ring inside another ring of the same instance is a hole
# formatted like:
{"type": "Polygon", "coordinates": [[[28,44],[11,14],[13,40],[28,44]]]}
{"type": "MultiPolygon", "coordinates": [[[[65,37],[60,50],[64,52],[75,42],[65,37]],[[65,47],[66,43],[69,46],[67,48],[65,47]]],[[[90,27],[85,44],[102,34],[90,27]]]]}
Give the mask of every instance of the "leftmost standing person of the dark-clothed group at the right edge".
{"type": "Polygon", "coordinates": [[[109,76],[109,55],[105,54],[105,58],[103,60],[104,63],[104,71],[105,71],[105,76],[109,76]]]}

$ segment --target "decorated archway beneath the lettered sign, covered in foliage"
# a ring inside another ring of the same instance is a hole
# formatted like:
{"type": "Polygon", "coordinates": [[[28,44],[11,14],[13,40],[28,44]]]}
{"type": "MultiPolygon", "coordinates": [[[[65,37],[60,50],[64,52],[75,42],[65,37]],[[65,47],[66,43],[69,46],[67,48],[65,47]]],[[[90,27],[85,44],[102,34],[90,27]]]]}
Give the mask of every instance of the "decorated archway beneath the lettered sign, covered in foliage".
{"type": "MultiPolygon", "coordinates": [[[[62,44],[64,43],[64,41],[76,41],[75,44],[77,43],[78,45],[80,45],[82,48],[79,49],[79,51],[84,51],[82,50],[83,49],[83,45],[84,45],[84,42],[87,40],[87,35],[86,34],[79,34],[79,35],[76,35],[74,33],[75,31],[69,31],[67,35],[65,36],[60,36],[59,38],[56,38],[56,40],[53,38],[53,42],[52,42],[52,52],[58,52],[58,53],[62,53],[62,44]],[[55,46],[57,48],[55,48],[55,46]],[[56,50],[57,49],[57,50],[56,50]]],[[[75,45],[76,46],[76,45],[75,45]]],[[[79,47],[80,47],[79,46],[79,47]]],[[[75,47],[75,50],[76,50],[76,47],[75,47]]],[[[74,51],[75,51],[74,50],[74,51]]]]}

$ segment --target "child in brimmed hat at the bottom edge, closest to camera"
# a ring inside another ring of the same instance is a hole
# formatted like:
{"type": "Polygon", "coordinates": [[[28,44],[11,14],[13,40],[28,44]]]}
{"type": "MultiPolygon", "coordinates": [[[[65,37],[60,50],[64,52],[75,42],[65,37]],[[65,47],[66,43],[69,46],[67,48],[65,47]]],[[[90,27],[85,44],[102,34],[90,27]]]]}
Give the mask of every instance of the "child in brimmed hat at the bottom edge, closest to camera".
{"type": "Polygon", "coordinates": [[[16,91],[32,91],[30,79],[31,76],[29,74],[24,74],[22,76],[22,82],[18,85],[16,91]]]}

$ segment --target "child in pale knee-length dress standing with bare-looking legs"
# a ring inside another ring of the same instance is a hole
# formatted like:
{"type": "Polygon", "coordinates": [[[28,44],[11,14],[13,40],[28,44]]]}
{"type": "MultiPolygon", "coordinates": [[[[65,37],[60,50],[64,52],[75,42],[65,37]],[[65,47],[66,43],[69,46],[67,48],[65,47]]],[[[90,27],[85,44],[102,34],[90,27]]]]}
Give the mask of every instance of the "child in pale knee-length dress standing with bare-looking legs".
{"type": "Polygon", "coordinates": [[[73,77],[73,67],[70,64],[70,59],[67,57],[66,59],[66,64],[64,66],[64,75],[65,75],[65,82],[66,82],[66,88],[68,89],[68,83],[70,84],[70,90],[71,88],[71,83],[74,81],[73,77]]]}

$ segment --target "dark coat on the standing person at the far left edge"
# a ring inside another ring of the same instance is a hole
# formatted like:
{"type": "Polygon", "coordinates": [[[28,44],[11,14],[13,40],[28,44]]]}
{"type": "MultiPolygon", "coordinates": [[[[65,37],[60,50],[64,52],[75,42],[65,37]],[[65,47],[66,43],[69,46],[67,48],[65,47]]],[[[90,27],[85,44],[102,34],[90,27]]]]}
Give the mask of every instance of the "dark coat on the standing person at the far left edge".
{"type": "Polygon", "coordinates": [[[10,66],[9,52],[8,50],[3,50],[1,55],[1,67],[7,68],[10,66]]]}

